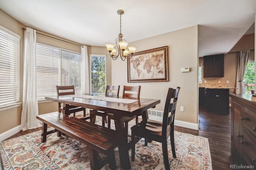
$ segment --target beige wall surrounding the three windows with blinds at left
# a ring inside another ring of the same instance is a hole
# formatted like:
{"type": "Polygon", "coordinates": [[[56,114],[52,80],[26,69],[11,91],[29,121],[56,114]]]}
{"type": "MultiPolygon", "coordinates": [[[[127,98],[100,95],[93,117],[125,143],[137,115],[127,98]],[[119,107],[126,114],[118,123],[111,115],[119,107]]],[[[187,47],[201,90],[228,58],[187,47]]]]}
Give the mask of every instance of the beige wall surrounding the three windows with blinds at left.
{"type": "MultiPolygon", "coordinates": [[[[23,77],[23,41],[24,41],[24,31],[22,28],[26,28],[23,24],[12,18],[10,15],[6,14],[6,12],[2,11],[0,9],[0,25],[4,28],[7,28],[8,30],[11,30],[12,32],[18,34],[21,36],[20,38],[20,102],[22,102],[22,77],[23,77]]],[[[52,34],[48,34],[46,32],[42,32],[40,30],[36,29],[36,32],[45,34],[47,36],[51,36],[54,38],[58,38],[60,40],[64,40],[67,42],[71,42],[77,45],[82,45],[80,43],[72,42],[70,40],[66,40],[64,38],[60,38],[58,36],[54,36],[52,34]]],[[[46,43],[49,45],[54,45],[56,47],[69,49],[71,51],[80,52],[80,46],[73,45],[71,43],[63,42],[60,40],[56,40],[54,38],[49,38],[46,36],[42,36],[40,34],[36,34],[36,41],[41,43],[46,43]]],[[[105,47],[96,47],[96,46],[88,46],[88,57],[90,58],[90,54],[101,54],[101,55],[107,55],[108,52],[105,47]]],[[[89,62],[90,63],[90,62],[89,62]]],[[[88,68],[89,69],[89,68],[88,68]]],[[[107,57],[107,76],[106,81],[108,84],[111,85],[111,59],[107,57]]],[[[39,102],[38,103],[38,112],[39,114],[44,113],[50,113],[53,111],[58,110],[58,105],[56,102],[39,102]]],[[[20,125],[20,117],[21,117],[21,111],[22,111],[22,104],[20,107],[16,107],[14,109],[8,109],[5,111],[0,111],[0,134],[3,132],[6,132],[7,130],[10,130],[14,127],[17,127],[20,125]]]]}

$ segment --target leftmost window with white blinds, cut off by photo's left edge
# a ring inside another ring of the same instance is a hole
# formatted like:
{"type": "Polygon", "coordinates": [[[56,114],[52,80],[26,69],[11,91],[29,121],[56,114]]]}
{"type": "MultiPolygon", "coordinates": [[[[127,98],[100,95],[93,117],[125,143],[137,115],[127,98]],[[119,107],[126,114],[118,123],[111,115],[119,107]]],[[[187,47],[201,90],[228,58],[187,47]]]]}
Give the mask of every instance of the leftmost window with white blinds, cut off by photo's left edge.
{"type": "Polygon", "coordinates": [[[0,108],[20,100],[20,36],[0,26],[0,108]]]}

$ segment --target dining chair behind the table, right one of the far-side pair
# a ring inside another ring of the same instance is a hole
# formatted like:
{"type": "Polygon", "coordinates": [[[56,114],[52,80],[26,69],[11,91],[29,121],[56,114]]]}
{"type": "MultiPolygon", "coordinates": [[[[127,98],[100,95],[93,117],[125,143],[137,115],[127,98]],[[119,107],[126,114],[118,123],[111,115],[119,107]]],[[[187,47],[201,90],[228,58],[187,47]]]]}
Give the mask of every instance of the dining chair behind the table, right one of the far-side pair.
{"type": "MultiPolygon", "coordinates": [[[[140,85],[139,86],[125,86],[123,87],[123,97],[132,97],[139,99],[140,98],[140,85]]],[[[114,115],[112,113],[108,113],[108,128],[110,128],[111,119],[114,120],[114,115]]],[[[135,118],[136,124],[138,123],[138,116],[134,117],[124,117],[124,127],[126,128],[126,132],[128,134],[128,122],[135,118]]]]}

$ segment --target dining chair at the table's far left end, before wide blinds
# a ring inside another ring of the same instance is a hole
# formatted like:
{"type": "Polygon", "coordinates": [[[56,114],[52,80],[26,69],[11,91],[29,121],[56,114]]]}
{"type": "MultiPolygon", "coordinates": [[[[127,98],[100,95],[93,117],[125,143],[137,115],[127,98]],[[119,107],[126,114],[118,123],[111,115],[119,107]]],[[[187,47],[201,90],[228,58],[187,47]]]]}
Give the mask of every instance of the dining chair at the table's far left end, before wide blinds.
{"type": "MultiPolygon", "coordinates": [[[[74,85],[68,85],[68,86],[59,86],[56,85],[56,91],[57,91],[57,96],[62,96],[62,95],[74,95],[75,94],[75,88],[74,85]]],[[[86,117],[86,108],[83,107],[77,107],[77,106],[72,106],[70,105],[69,107],[70,113],[73,113],[73,116],[76,116],[76,112],[83,111],[84,113],[84,118],[83,119],[89,119],[90,117],[86,117]]],[[[63,103],[58,103],[58,110],[59,112],[63,113],[64,110],[63,103]]]]}

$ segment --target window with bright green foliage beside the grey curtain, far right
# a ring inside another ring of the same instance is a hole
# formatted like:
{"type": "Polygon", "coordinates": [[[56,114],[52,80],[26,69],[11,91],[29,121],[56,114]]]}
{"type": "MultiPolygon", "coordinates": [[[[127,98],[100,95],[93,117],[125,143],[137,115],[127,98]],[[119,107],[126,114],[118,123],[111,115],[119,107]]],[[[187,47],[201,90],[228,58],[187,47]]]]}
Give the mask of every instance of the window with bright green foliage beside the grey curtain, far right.
{"type": "Polygon", "coordinates": [[[248,61],[246,65],[246,71],[244,73],[244,84],[245,84],[245,93],[250,94],[251,90],[254,89],[254,61],[248,61]]]}

